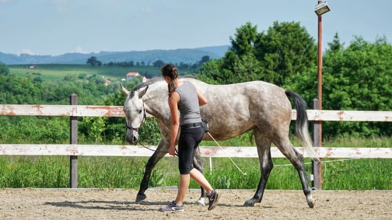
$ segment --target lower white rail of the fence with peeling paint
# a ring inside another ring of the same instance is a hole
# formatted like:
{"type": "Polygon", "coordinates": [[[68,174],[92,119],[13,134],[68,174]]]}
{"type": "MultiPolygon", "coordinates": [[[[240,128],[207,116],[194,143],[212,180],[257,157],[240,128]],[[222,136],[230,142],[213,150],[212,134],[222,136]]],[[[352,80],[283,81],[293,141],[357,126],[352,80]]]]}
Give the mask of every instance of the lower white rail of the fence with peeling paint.
{"type": "MultiPolygon", "coordinates": [[[[0,155],[69,155],[69,156],[151,156],[157,146],[139,145],[76,145],[76,144],[0,144],[0,155]]],[[[302,147],[295,148],[304,157],[309,154],[302,147]]],[[[320,158],[392,158],[392,148],[315,148],[320,158]]],[[[257,158],[256,147],[200,147],[203,157],[257,158]]],[[[166,156],[170,156],[167,154],[166,156]]],[[[271,156],[285,158],[276,148],[271,156]]]]}

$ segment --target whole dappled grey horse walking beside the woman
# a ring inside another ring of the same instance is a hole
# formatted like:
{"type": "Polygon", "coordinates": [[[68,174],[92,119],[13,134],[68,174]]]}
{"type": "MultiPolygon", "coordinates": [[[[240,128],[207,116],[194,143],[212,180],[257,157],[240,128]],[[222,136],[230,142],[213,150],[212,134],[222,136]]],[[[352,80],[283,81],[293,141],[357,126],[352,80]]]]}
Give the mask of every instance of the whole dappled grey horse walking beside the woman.
{"type": "MultiPolygon", "coordinates": [[[[292,106],[287,96],[293,98],[297,110],[295,134],[302,145],[308,150],[313,159],[316,153],[308,132],[308,118],[305,101],[295,92],[279,88],[276,85],[252,81],[231,85],[210,85],[194,77],[184,77],[181,80],[190,81],[207,98],[208,104],[200,107],[202,118],[208,119],[209,132],[216,140],[226,140],[253,130],[260,160],[261,177],[253,198],[245,201],[244,206],[254,206],[261,202],[268,177],[273,168],[270,147],[273,143],[294,165],[301,180],[302,189],[310,208],[315,200],[312,198],[303,156],[299,154],[289,140],[289,127],[292,120],[292,106]]],[[[169,151],[170,140],[170,109],[168,100],[168,85],[161,78],[154,78],[140,84],[131,91],[120,85],[126,97],[124,113],[126,120],[126,141],[137,144],[138,132],[146,119],[146,112],[157,119],[162,139],[157,150],[148,159],[146,170],[136,201],[147,198],[145,191],[152,169],[156,163],[169,151]]],[[[205,135],[204,140],[212,140],[205,135]]],[[[196,154],[193,165],[201,173],[204,172],[200,155],[196,154]]],[[[198,203],[204,204],[206,192],[201,188],[198,203]]]]}

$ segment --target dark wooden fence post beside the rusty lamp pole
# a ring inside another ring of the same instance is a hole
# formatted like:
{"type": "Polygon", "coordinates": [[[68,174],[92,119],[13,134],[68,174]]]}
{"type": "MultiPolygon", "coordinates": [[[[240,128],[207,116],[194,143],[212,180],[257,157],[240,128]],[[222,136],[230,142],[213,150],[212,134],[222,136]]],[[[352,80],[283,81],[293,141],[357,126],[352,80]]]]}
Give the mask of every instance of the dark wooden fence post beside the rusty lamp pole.
{"type": "MultiPolygon", "coordinates": [[[[312,109],[319,110],[319,99],[312,100],[312,109]]],[[[312,122],[312,135],[313,135],[313,143],[315,147],[321,147],[321,129],[320,126],[321,121],[313,121],[312,122]]],[[[321,189],[322,180],[321,180],[321,162],[312,160],[312,186],[316,189],[321,189]]]]}

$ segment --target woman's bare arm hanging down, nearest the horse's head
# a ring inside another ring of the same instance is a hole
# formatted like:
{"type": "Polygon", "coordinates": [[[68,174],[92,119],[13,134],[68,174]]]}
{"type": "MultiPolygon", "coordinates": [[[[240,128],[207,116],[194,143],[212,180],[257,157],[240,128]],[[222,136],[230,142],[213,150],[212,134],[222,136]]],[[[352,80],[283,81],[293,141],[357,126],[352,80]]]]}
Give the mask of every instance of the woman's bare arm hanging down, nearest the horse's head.
{"type": "Polygon", "coordinates": [[[177,92],[173,92],[168,98],[170,114],[172,121],[170,123],[170,149],[169,154],[174,156],[175,151],[175,140],[178,134],[178,128],[180,126],[180,119],[178,114],[178,102],[180,101],[180,95],[177,92]]]}

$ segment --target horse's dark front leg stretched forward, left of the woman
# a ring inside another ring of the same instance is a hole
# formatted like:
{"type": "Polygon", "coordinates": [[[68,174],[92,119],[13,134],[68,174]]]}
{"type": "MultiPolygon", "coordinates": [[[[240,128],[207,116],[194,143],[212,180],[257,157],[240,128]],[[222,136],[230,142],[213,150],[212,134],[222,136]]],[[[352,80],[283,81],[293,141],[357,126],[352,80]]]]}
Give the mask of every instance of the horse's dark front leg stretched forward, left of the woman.
{"type": "Polygon", "coordinates": [[[154,154],[152,154],[152,156],[148,159],[148,162],[146,164],[146,170],[144,172],[142,182],[140,183],[139,192],[136,196],[136,201],[142,201],[147,198],[145,192],[148,188],[148,182],[150,180],[152,169],[154,169],[158,161],[167,154],[168,149],[169,143],[164,138],[162,138],[161,142],[158,145],[158,148],[156,149],[154,154]]]}

